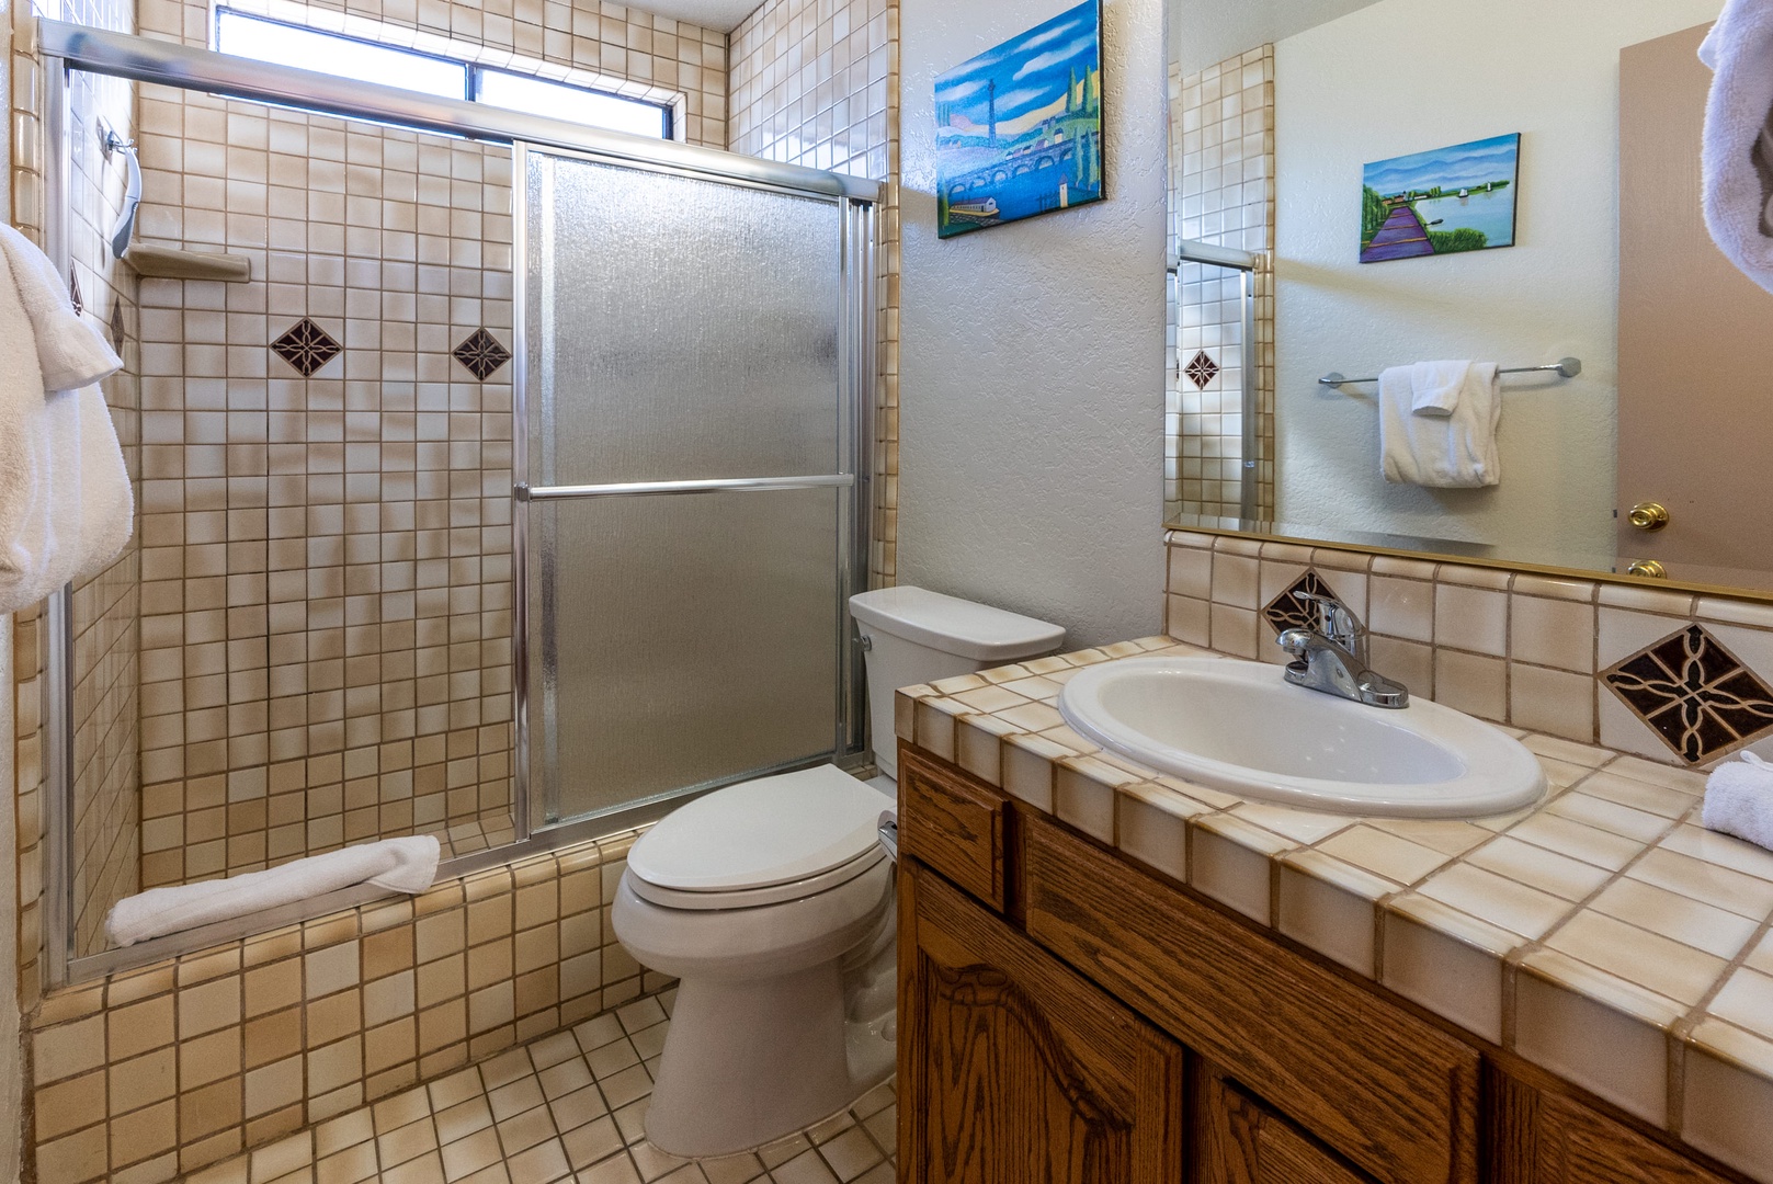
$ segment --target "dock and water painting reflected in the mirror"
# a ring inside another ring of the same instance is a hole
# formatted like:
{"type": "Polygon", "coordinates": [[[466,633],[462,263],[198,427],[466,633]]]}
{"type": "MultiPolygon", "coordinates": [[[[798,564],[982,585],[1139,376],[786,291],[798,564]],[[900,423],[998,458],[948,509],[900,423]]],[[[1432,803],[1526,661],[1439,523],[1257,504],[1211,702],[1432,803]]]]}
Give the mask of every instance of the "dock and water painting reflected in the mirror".
{"type": "Polygon", "coordinates": [[[1519,133],[1395,156],[1362,170],[1360,261],[1514,246],[1519,133]]]}

